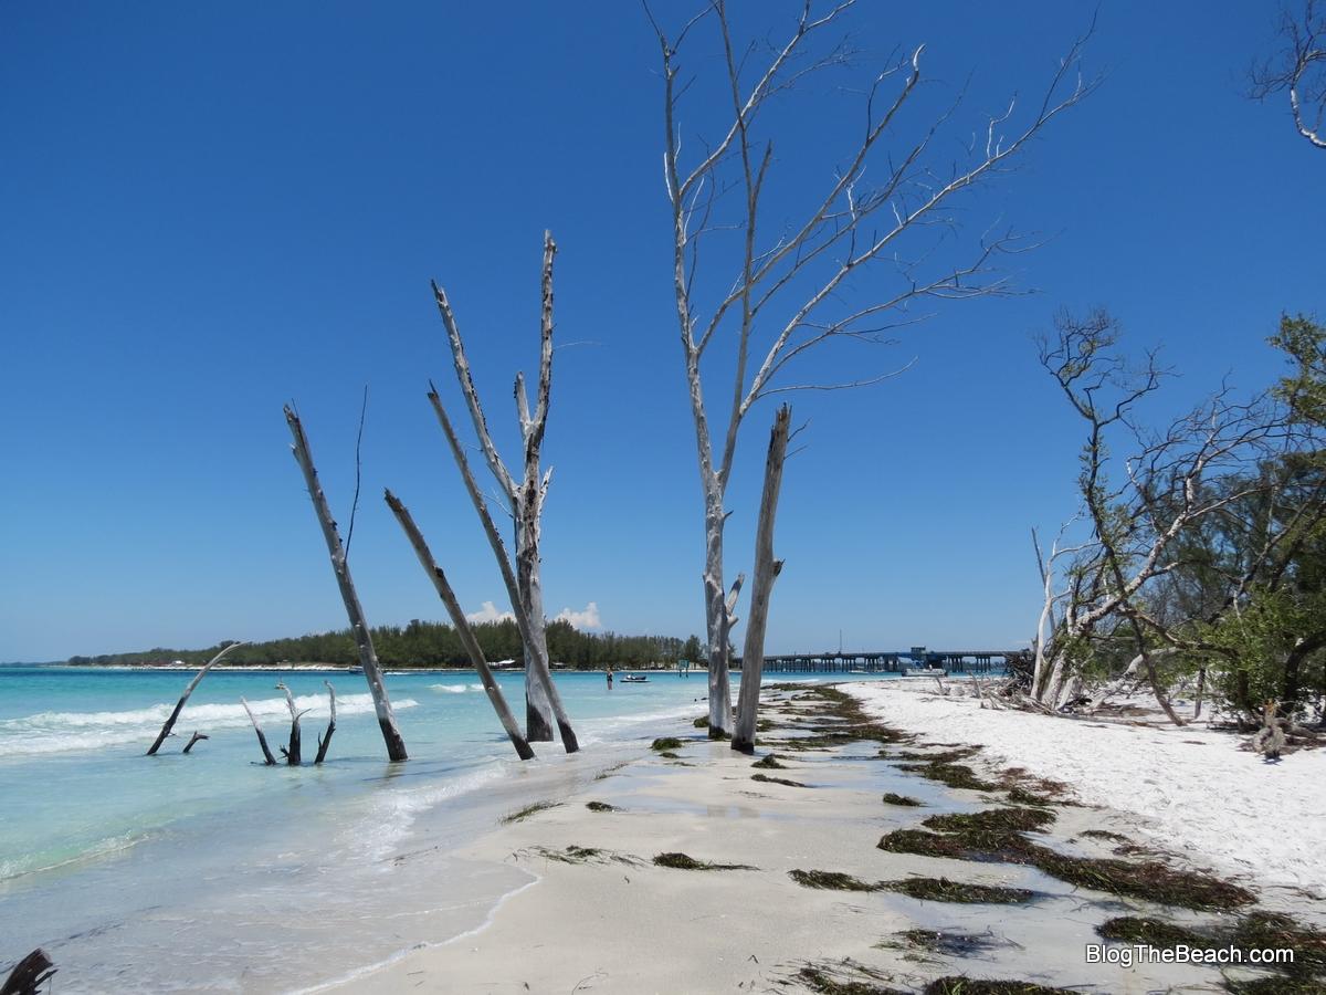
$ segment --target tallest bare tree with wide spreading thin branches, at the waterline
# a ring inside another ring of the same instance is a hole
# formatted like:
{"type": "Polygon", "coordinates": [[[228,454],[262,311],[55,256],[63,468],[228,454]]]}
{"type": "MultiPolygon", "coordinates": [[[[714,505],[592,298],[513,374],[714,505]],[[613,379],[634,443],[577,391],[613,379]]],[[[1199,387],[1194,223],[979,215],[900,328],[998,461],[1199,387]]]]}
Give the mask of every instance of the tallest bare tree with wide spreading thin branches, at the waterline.
{"type": "Polygon", "coordinates": [[[919,103],[914,101],[922,82],[924,46],[919,46],[867,85],[858,130],[830,161],[822,187],[805,194],[804,212],[766,226],[764,196],[776,163],[768,118],[780,94],[808,77],[850,66],[853,53],[826,36],[853,7],[854,0],[826,8],[806,0],[788,40],[768,46],[737,42],[724,0],[711,0],[675,36],[650,13],[662,53],[674,297],[704,507],[712,738],[724,736],[732,724],[723,559],[731,512],[724,495],[743,421],[756,402],[778,393],[865,386],[892,375],[784,383],[789,367],[812,350],[835,342],[886,342],[891,328],[919,320],[907,313],[912,304],[1005,291],[993,267],[1013,247],[1012,235],[981,237],[959,264],[936,261],[936,253],[947,251],[940,239],[957,228],[953,208],[964,192],[1006,171],[1029,142],[1095,85],[1078,73],[1085,42],[1079,38],[1050,74],[1028,119],[1014,126],[1018,107],[1009,101],[1004,113],[983,119],[965,159],[936,166],[932,146],[936,135],[956,126],[961,98],[923,125],[916,138],[895,139],[904,110],[919,103]],[[695,143],[696,154],[683,155],[679,125],[690,106],[683,98],[704,81],[682,77],[682,52],[692,34],[707,28],[721,45],[723,72],[699,100],[707,107],[727,106],[728,117],[715,135],[695,143]],[[1013,130],[1005,134],[1005,129],[1013,130]],[[724,232],[733,241],[721,240],[724,232]],[[884,289],[880,280],[866,302],[853,301],[849,291],[867,272],[891,273],[895,283],[884,289]],[[723,289],[705,304],[707,288],[715,285],[723,289]],[[732,373],[725,425],[711,421],[704,397],[704,370],[712,365],[705,357],[720,337],[731,342],[731,353],[720,361],[732,373]]]}

